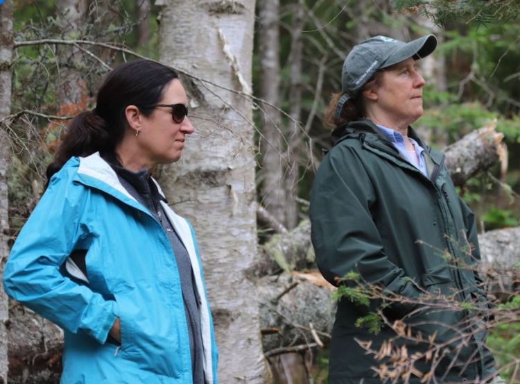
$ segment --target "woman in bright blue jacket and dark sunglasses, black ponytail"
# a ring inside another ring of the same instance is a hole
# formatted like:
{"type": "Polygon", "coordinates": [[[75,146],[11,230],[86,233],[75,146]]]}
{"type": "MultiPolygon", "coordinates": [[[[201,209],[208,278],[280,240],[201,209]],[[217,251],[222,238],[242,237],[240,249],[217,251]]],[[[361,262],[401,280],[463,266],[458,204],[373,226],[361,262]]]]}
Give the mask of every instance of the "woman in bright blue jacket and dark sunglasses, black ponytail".
{"type": "Polygon", "coordinates": [[[216,383],[193,228],[155,165],[179,160],[187,94],[150,60],[114,69],[71,122],[12,247],[6,292],[64,329],[61,383],[216,383]]]}

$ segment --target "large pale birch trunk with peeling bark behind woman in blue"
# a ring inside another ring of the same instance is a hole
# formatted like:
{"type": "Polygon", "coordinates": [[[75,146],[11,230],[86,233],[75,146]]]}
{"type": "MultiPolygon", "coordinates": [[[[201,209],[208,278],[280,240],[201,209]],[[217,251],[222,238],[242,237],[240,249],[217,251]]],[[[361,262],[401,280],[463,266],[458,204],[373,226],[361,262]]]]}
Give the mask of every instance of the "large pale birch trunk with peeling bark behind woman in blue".
{"type": "MultiPolygon", "coordinates": [[[[254,0],[159,5],[162,62],[250,94],[254,0]]],[[[183,83],[196,131],[187,137],[181,160],[164,167],[159,179],[168,201],[197,233],[220,383],[266,383],[256,287],[249,277],[257,257],[252,102],[195,78],[183,83]]]]}

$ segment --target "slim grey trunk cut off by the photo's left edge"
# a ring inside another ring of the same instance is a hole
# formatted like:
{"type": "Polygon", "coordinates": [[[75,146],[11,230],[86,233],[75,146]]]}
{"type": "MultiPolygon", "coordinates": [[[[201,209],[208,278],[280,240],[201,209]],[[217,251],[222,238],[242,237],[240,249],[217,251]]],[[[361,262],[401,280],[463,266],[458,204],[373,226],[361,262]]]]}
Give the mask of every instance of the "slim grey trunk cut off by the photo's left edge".
{"type": "MultiPolygon", "coordinates": [[[[10,115],[11,106],[11,59],[12,59],[12,1],[0,4],[0,278],[8,257],[8,187],[7,169],[10,158],[8,129],[3,123],[10,115]]],[[[0,383],[7,383],[9,321],[8,297],[0,289],[0,383]]]]}

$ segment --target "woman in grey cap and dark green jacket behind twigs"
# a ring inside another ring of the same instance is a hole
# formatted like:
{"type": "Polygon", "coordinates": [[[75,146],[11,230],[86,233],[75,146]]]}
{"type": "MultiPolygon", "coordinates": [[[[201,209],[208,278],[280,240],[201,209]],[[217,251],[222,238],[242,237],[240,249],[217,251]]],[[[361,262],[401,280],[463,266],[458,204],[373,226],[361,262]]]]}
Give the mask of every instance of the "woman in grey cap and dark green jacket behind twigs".
{"type": "Polygon", "coordinates": [[[343,92],[327,110],[336,128],[311,196],[316,260],[329,282],[361,284],[374,295],[369,305],[338,303],[329,384],[487,382],[496,375],[485,347],[487,299],[476,273],[474,215],[458,197],[444,155],[410,126],[423,113],[424,79],[415,60],[436,44],[428,35],[408,43],[377,36],[356,45],[343,65],[343,92]],[[349,273],[351,279],[339,280],[349,273]],[[449,301],[450,308],[442,306],[449,301]],[[356,326],[378,310],[379,333],[356,326]],[[397,337],[400,324],[406,330],[397,337]],[[391,353],[381,349],[385,341],[391,353]],[[399,349],[403,356],[403,346],[406,356],[392,363],[388,355],[399,349]]]}

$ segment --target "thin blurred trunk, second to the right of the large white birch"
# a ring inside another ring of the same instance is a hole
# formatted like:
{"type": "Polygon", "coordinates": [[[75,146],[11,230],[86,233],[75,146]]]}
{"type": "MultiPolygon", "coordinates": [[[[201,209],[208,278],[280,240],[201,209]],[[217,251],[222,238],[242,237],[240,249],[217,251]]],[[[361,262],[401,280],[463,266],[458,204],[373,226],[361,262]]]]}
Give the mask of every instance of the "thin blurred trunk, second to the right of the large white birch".
{"type": "Polygon", "coordinates": [[[287,228],[295,228],[298,224],[298,178],[300,174],[300,144],[302,137],[302,30],[304,26],[304,2],[297,0],[294,3],[293,25],[291,26],[291,87],[289,90],[289,115],[291,121],[288,127],[286,140],[288,169],[285,178],[286,191],[286,223],[287,228]]]}

